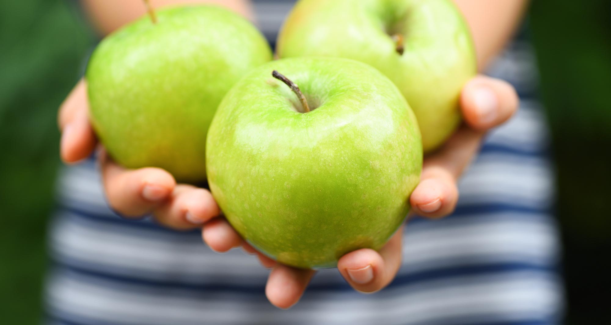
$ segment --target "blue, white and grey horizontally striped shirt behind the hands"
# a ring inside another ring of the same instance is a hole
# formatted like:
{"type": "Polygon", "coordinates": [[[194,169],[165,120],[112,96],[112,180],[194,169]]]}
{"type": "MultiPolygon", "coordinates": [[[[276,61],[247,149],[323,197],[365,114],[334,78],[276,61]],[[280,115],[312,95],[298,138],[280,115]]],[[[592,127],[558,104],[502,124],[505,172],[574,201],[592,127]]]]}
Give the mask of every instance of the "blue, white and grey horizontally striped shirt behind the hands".
{"type": "MultiPolygon", "coordinates": [[[[255,1],[269,40],[292,4],[255,1]]],[[[492,65],[489,75],[518,89],[519,112],[486,137],[461,178],[456,212],[409,222],[403,265],[375,294],[325,270],[295,307],[276,309],[265,298],[268,271],[255,258],[216,254],[197,231],[122,219],[104,200],[93,160],[65,167],[49,236],[48,324],[558,324],[554,183],[535,70],[519,40],[492,65]]]]}

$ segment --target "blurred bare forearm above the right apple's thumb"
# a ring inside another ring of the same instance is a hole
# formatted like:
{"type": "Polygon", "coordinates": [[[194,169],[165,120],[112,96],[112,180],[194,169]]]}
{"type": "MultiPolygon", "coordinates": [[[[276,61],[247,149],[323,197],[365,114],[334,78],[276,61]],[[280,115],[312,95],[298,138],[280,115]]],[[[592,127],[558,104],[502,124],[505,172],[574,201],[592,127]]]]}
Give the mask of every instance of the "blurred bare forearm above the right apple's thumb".
{"type": "Polygon", "coordinates": [[[484,70],[515,32],[528,0],[455,0],[475,41],[477,66],[484,70]]]}

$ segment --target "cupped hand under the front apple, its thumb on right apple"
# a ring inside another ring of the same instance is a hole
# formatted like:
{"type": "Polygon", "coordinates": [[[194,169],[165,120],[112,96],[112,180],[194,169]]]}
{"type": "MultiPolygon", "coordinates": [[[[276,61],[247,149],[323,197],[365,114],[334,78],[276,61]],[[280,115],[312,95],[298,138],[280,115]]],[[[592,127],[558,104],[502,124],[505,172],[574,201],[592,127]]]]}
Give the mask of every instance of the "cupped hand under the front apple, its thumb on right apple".
{"type": "MultiPolygon", "coordinates": [[[[505,81],[477,76],[467,82],[460,97],[463,125],[434,153],[425,156],[420,183],[410,197],[412,213],[424,217],[451,214],[458,202],[456,182],[478,152],[486,131],[507,121],[518,109],[518,95],[505,81]]],[[[212,249],[225,252],[242,246],[257,254],[271,268],[266,296],[279,308],[289,308],[301,298],[315,271],[280,265],[245,243],[224,219],[214,219],[203,229],[203,239],[212,249]]],[[[344,255],[337,268],[357,291],[372,293],[386,287],[401,266],[403,228],[379,251],[360,249],[344,255]]]]}

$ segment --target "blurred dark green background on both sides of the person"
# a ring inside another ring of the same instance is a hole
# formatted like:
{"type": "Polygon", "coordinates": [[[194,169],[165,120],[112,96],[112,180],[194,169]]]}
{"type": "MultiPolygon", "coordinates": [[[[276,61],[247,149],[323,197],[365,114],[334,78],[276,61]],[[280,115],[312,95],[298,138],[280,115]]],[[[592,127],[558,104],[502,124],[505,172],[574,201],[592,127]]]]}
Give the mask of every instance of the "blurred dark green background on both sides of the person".
{"type": "MultiPolygon", "coordinates": [[[[510,1],[510,0],[508,0],[510,1]]],[[[0,2],[0,323],[37,324],[45,232],[60,166],[57,108],[95,35],[71,2],[0,2]]],[[[553,133],[567,324],[611,324],[611,5],[536,0],[529,10],[553,133]]]]}

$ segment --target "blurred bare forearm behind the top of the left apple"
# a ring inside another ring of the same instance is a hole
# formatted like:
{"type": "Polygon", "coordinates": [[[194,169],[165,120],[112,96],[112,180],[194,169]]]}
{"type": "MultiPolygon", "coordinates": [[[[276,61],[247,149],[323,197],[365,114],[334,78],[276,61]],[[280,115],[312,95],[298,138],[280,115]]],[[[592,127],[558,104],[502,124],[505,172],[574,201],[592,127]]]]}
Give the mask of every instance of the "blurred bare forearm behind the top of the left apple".
{"type": "MultiPolygon", "coordinates": [[[[81,0],[82,6],[101,35],[107,35],[139,16],[144,15],[146,8],[143,0],[81,0]]],[[[177,4],[218,4],[252,18],[248,0],[154,0],[156,8],[177,4]]]]}

